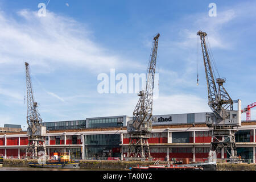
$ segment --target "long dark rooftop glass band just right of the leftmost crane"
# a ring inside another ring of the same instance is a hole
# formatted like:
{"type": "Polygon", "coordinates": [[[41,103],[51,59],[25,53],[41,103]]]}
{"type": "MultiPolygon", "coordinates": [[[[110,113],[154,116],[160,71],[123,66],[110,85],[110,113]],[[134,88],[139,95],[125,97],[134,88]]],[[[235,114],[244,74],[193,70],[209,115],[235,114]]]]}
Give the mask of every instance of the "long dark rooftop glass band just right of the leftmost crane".
{"type": "Polygon", "coordinates": [[[85,129],[86,120],[44,122],[42,124],[46,126],[46,130],[85,129]]]}

